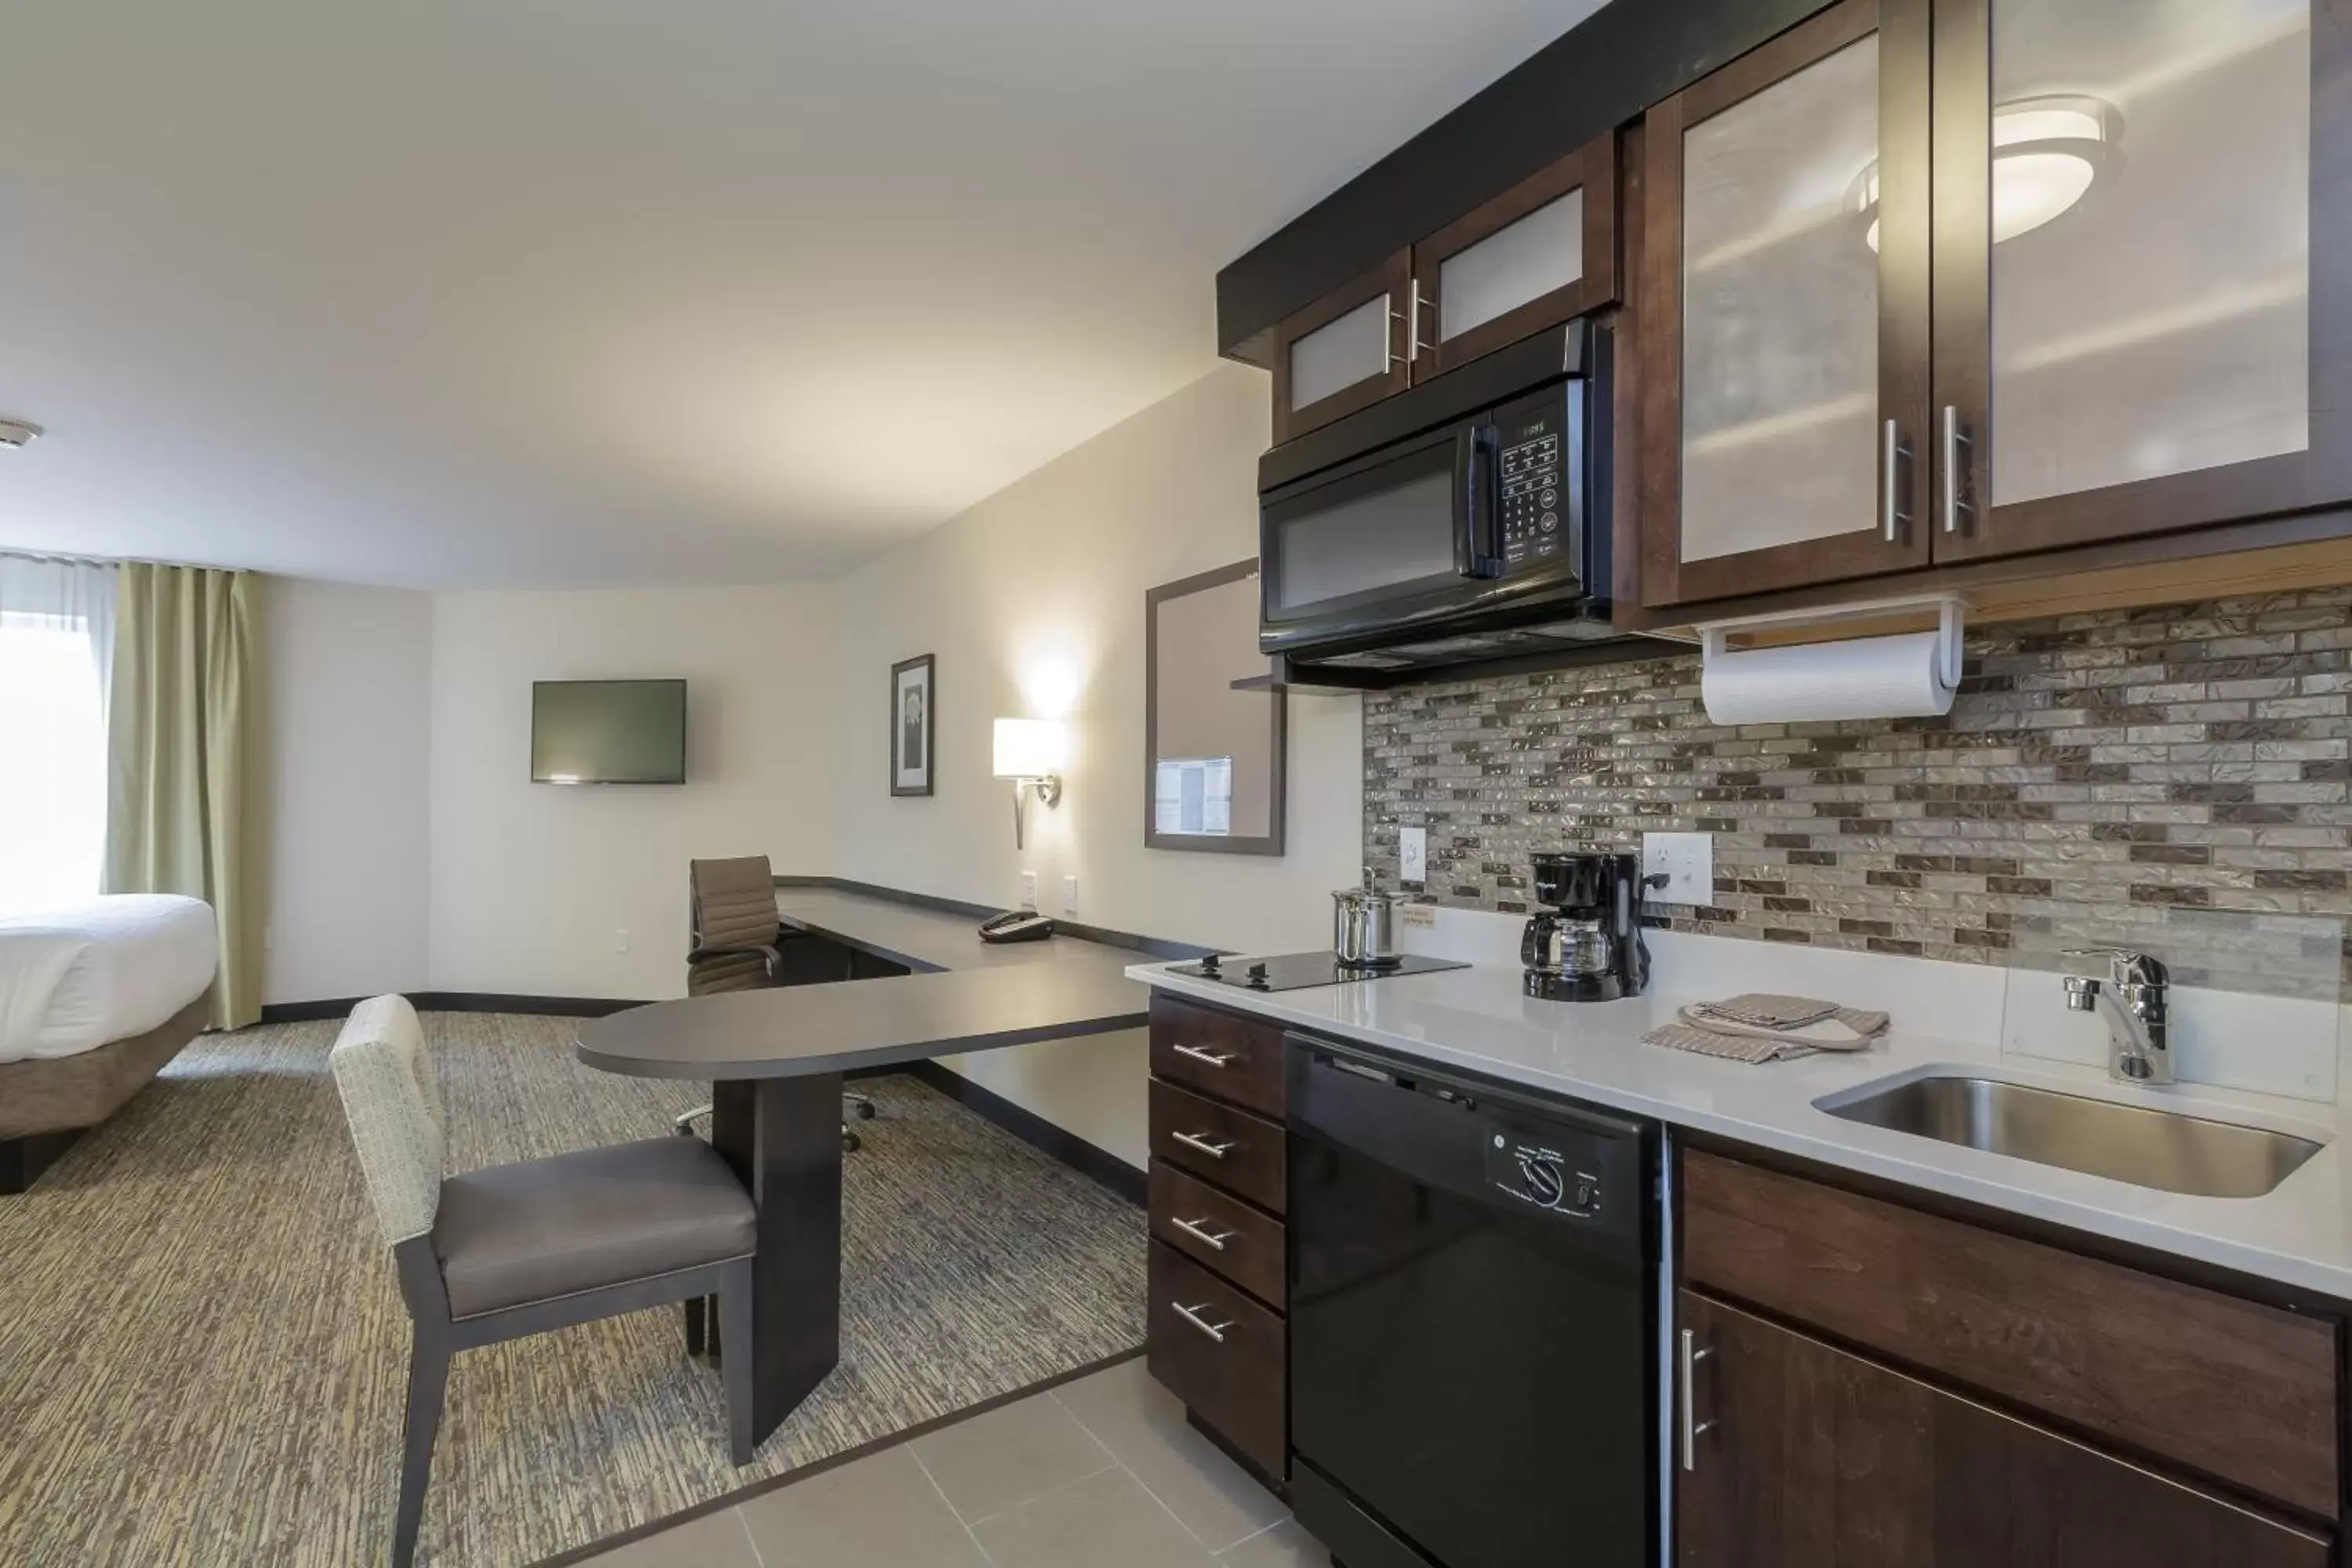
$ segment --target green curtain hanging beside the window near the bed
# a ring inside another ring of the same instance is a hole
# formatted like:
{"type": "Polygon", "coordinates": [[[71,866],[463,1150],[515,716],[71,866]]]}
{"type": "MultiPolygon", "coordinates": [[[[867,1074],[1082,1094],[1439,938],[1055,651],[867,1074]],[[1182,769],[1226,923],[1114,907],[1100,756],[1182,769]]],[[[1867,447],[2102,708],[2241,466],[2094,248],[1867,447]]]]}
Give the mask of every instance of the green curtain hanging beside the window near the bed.
{"type": "Polygon", "coordinates": [[[216,1030],[261,1018],[259,705],[259,578],[125,564],[106,712],[106,891],[212,905],[216,1030]]]}

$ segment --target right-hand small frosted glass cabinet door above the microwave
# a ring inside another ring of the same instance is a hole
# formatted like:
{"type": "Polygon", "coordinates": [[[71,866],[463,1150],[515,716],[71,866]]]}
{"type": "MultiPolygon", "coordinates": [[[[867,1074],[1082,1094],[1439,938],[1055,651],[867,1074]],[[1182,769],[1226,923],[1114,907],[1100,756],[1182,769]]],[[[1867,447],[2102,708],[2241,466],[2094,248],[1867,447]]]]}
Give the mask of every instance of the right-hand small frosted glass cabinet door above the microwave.
{"type": "Polygon", "coordinates": [[[1414,247],[1414,378],[1616,299],[1616,132],[1414,247]]]}

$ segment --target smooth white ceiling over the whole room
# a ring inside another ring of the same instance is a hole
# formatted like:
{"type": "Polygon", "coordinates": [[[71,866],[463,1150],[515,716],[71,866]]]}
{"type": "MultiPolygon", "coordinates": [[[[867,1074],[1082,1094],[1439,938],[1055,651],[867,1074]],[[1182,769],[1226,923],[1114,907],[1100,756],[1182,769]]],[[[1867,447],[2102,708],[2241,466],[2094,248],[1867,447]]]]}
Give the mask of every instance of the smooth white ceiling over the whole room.
{"type": "Polygon", "coordinates": [[[71,0],[0,28],[0,545],[830,576],[1214,364],[1597,0],[71,0]]]}

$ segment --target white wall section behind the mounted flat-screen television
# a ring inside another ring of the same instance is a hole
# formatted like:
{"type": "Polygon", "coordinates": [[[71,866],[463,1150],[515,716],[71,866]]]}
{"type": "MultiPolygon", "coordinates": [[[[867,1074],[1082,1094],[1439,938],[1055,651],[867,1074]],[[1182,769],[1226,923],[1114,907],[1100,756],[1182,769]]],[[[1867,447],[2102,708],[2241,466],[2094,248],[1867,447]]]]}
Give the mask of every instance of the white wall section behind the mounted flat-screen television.
{"type": "Polygon", "coordinates": [[[821,585],[435,595],[430,987],[677,997],[687,860],[833,870],[833,628],[821,585]],[[687,679],[687,783],[534,785],[532,682],[633,675],[687,679]]]}

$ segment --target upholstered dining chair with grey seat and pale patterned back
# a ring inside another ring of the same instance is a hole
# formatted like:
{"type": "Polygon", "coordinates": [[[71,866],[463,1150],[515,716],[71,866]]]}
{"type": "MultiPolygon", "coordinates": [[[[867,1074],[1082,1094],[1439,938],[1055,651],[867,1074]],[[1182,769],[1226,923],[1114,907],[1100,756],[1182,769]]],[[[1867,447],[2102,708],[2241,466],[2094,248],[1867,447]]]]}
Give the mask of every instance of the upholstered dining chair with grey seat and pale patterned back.
{"type": "MultiPolygon", "coordinates": [[[[454,1352],[715,1295],[750,1345],[753,1206],[701,1138],[644,1138],[442,1175],[433,1056],[405,997],[350,1011],[327,1063],[416,1338],[393,1568],[423,1523],[454,1352]]],[[[727,1441],[753,1458],[750,1356],[724,1356],[727,1441]]]]}

